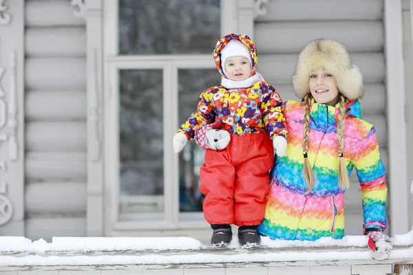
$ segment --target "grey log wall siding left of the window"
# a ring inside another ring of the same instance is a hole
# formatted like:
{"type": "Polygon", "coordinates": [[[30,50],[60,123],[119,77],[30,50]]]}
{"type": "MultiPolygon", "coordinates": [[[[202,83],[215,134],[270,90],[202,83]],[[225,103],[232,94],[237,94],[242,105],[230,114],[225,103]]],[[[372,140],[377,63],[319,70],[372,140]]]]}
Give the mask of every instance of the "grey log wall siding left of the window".
{"type": "Polygon", "coordinates": [[[29,0],[25,27],[25,235],[85,236],[85,20],[70,1],[29,0]]]}

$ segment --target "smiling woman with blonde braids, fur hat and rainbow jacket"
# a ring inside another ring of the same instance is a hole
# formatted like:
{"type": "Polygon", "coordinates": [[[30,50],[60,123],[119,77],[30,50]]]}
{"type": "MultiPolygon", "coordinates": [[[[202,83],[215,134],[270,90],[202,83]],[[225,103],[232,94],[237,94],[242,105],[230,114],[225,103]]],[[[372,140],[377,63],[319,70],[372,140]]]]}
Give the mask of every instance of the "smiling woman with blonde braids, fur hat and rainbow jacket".
{"type": "Polygon", "coordinates": [[[363,229],[376,259],[385,258],[392,248],[383,234],[385,168],[374,126],[361,119],[359,69],[341,43],[317,40],[299,54],[293,85],[303,101],[285,103],[288,146],[276,159],[258,231],[271,239],[341,239],[343,195],[355,168],[363,194],[363,229]]]}

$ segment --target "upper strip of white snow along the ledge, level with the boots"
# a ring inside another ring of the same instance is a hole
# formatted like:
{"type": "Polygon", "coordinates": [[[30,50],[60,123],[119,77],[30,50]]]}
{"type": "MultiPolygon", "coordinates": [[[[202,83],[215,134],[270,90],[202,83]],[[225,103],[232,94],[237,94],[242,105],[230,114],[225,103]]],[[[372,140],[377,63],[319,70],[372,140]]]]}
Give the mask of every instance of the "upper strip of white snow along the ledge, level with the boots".
{"type": "MultiPolygon", "coordinates": [[[[399,234],[392,238],[394,245],[413,246],[413,228],[406,234],[399,234]]],[[[0,236],[0,252],[68,252],[68,251],[118,251],[118,250],[198,250],[206,248],[200,241],[180,237],[54,237],[51,243],[43,239],[31,241],[21,236],[0,236]]],[[[317,241],[284,241],[271,240],[262,237],[261,244],[268,248],[322,248],[337,246],[341,248],[359,247],[367,245],[366,236],[344,236],[343,239],[321,238],[317,241]]],[[[236,235],[229,248],[239,248],[236,235]]]]}

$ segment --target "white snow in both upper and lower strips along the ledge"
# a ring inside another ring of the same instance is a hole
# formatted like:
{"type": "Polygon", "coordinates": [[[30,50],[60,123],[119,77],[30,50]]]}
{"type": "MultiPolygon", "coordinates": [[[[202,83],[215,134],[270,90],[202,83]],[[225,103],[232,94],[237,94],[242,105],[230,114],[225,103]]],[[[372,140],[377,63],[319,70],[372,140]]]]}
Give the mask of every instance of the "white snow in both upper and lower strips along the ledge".
{"type": "MultiPolygon", "coordinates": [[[[407,248],[393,250],[390,259],[413,259],[413,228],[396,235],[394,245],[407,248]]],[[[283,250],[247,250],[239,248],[236,235],[228,253],[189,237],[55,237],[51,243],[43,239],[0,236],[0,266],[46,265],[168,265],[180,263],[260,263],[286,261],[351,261],[371,260],[365,236],[345,236],[341,240],[323,238],[317,241],[282,241],[262,238],[262,245],[283,250]],[[357,250],[335,250],[360,248],[357,250]],[[291,249],[291,248],[297,249],[291,249]],[[299,249],[304,248],[304,249],[299,249]],[[311,250],[310,248],[326,248],[311,250]],[[363,249],[365,248],[365,249],[363,249]],[[133,250],[135,252],[125,253],[133,250]],[[66,252],[66,253],[65,253],[66,252]],[[92,254],[85,254],[92,252],[92,254]],[[94,252],[94,253],[93,253],[94,252]],[[110,252],[110,254],[109,254],[110,252]],[[12,254],[10,254],[12,253],[12,254]],[[21,253],[21,254],[19,254],[21,253]]]]}

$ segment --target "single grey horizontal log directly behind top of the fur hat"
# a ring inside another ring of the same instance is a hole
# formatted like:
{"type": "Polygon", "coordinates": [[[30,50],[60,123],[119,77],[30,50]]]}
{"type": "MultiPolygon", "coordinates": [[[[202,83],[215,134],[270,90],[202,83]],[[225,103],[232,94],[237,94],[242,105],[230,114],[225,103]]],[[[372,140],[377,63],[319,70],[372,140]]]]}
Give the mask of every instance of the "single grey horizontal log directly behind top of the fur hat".
{"type": "Polygon", "coordinates": [[[323,37],[340,41],[349,52],[382,51],[383,22],[332,21],[328,22],[328,28],[326,21],[282,21],[254,25],[254,42],[258,54],[298,53],[310,41],[323,37]]]}

